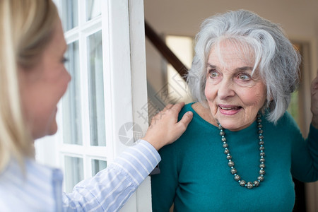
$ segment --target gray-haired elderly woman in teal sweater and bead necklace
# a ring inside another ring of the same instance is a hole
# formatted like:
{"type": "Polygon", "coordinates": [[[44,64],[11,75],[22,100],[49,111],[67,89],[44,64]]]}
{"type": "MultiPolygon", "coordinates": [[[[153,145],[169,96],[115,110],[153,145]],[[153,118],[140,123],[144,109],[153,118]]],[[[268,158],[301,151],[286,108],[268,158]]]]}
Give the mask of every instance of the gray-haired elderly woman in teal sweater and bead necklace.
{"type": "Polygon", "coordinates": [[[292,211],[292,177],[318,179],[318,78],[305,140],[286,109],[300,56],[281,28],[249,11],[204,21],[187,81],[197,102],[161,149],[153,211],[292,211]]]}

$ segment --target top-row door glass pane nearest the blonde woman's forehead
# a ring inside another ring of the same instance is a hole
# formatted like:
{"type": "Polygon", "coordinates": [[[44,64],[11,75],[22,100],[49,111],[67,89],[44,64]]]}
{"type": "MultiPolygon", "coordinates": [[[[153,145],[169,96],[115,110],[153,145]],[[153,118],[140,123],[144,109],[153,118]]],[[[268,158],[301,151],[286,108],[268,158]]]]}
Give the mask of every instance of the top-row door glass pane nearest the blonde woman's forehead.
{"type": "Polygon", "coordinates": [[[78,26],[78,0],[61,1],[61,20],[64,31],[78,26]]]}

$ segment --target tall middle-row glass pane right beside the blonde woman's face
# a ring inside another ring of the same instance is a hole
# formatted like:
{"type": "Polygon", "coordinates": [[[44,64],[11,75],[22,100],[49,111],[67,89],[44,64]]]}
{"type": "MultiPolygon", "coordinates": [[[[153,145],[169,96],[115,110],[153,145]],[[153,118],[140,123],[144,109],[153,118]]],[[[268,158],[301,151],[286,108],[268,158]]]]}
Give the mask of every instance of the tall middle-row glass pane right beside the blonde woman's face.
{"type": "Polygon", "coordinates": [[[65,64],[72,80],[63,98],[64,143],[82,145],[81,127],[81,81],[79,76],[78,41],[69,44],[65,64]]]}

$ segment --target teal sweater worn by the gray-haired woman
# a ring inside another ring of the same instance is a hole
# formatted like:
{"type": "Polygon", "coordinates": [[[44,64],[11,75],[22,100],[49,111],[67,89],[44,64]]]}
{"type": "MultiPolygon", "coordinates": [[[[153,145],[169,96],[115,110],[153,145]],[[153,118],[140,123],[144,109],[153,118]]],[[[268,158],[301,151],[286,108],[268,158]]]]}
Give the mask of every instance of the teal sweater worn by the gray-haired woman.
{"type": "MultiPolygon", "coordinates": [[[[265,171],[259,187],[240,187],[228,167],[219,129],[185,105],[194,117],[187,131],[160,150],[161,173],[151,177],[153,211],[293,211],[295,192],[292,176],[303,182],[318,179],[318,129],[310,126],[308,139],[297,124],[284,116],[274,126],[262,117],[265,171]]],[[[225,129],[237,174],[246,182],[259,176],[257,123],[241,131],[225,129]]]]}

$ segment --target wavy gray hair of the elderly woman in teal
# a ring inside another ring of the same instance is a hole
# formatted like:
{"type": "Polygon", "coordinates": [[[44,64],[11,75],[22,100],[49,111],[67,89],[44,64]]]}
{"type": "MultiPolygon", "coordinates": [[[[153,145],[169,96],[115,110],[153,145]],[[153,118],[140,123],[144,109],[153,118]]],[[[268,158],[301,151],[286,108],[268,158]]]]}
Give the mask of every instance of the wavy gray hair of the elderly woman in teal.
{"type": "MultiPolygon", "coordinates": [[[[187,83],[194,100],[206,105],[206,64],[213,47],[229,40],[243,49],[254,51],[254,71],[257,69],[267,91],[262,112],[276,123],[290,103],[290,94],[298,88],[300,54],[282,28],[250,11],[229,11],[204,20],[196,35],[195,55],[187,83]]],[[[243,51],[248,56],[249,51],[243,51]]]]}

